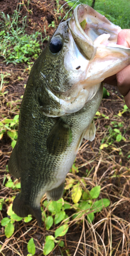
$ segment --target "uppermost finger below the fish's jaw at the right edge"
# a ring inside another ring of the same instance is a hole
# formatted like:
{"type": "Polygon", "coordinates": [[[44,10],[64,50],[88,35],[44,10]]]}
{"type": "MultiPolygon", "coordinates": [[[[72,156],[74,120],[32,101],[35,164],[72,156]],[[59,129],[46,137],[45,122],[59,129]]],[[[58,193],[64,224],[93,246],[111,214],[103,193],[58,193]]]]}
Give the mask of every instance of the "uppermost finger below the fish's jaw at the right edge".
{"type": "Polygon", "coordinates": [[[120,72],[116,74],[117,86],[119,88],[120,93],[123,96],[125,96],[130,90],[130,81],[128,79],[129,74],[130,74],[130,65],[122,69],[120,72]]]}

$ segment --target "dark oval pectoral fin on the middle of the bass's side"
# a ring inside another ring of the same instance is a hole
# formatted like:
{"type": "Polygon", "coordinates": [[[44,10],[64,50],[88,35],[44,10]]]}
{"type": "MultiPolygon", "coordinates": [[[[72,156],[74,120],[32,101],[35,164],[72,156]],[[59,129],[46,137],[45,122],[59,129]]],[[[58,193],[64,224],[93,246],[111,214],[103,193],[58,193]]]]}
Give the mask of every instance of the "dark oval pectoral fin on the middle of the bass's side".
{"type": "Polygon", "coordinates": [[[59,119],[47,136],[46,147],[49,154],[58,156],[66,151],[71,141],[72,133],[70,126],[59,119]]]}

